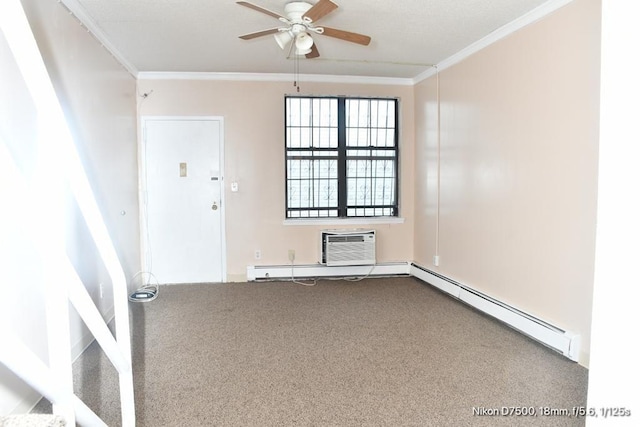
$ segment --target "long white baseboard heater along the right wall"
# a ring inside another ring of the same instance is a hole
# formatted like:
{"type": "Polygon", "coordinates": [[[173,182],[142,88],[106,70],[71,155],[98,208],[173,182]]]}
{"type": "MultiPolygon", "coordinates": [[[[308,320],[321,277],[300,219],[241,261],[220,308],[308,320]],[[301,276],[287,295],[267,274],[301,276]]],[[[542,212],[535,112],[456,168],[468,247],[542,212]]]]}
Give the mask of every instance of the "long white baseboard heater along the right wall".
{"type": "Polygon", "coordinates": [[[416,264],[411,264],[410,274],[506,323],[536,341],[562,353],[565,357],[578,361],[580,356],[580,335],[562,330],[544,320],[416,264]]]}

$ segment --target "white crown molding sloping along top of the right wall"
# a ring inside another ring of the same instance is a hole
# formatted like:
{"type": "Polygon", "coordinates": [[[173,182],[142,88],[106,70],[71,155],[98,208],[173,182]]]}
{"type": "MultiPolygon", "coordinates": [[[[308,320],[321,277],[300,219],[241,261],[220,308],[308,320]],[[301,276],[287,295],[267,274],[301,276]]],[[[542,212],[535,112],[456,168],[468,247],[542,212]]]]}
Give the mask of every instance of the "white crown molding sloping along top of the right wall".
{"type": "Polygon", "coordinates": [[[490,33],[488,36],[481,38],[477,42],[470,44],[469,46],[462,49],[458,53],[451,55],[444,61],[438,63],[437,65],[426,70],[425,72],[418,74],[413,79],[413,84],[418,84],[421,81],[428,79],[431,76],[434,76],[438,71],[445,70],[459,62],[462,62],[464,59],[470,57],[474,53],[479,52],[480,50],[497,42],[498,40],[501,40],[515,33],[516,31],[526,27],[527,25],[533,24],[534,22],[555,12],[561,7],[566,6],[572,1],[573,0],[549,0],[548,2],[541,4],[540,6],[533,9],[532,11],[498,28],[494,32],[490,33]]]}

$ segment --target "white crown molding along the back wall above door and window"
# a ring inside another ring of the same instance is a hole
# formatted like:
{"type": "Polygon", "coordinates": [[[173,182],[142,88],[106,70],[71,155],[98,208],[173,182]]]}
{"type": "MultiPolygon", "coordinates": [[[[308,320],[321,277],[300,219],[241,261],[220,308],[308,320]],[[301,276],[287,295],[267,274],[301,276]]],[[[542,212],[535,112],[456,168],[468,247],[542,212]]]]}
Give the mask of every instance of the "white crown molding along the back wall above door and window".
{"type": "MultiPolygon", "coordinates": [[[[253,81],[253,82],[290,82],[293,73],[209,73],[209,72],[166,72],[141,71],[139,80],[221,80],[221,81],[253,81]]],[[[338,76],[329,74],[300,74],[301,82],[315,83],[349,83],[370,85],[413,86],[411,78],[371,77],[371,76],[338,76]]]]}

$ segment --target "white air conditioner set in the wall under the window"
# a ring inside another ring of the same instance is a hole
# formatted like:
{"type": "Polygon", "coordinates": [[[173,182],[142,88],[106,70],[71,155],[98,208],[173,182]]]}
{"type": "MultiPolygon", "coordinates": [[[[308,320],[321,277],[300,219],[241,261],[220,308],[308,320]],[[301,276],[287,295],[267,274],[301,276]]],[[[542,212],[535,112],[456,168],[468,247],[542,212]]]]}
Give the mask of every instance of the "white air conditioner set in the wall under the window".
{"type": "Polygon", "coordinates": [[[375,230],[320,231],[320,263],[327,266],[374,265],[375,230]]]}

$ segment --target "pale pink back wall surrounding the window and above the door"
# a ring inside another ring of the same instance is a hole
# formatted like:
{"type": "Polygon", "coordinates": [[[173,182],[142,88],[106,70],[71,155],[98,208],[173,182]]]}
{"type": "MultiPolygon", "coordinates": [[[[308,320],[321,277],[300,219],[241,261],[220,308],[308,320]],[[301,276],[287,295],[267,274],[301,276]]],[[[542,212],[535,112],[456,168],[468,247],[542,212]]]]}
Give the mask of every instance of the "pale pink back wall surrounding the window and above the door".
{"type": "MultiPolygon", "coordinates": [[[[399,97],[401,106],[400,215],[403,224],[375,224],[378,262],[413,258],[413,88],[411,86],[303,83],[302,94],[399,97]]],[[[283,225],[284,96],[291,82],[213,80],[140,80],[138,91],[151,93],[141,116],[223,116],[225,127],[226,240],[228,280],[245,280],[248,265],[318,261],[318,230],[327,225],[283,225]],[[153,92],[151,92],[153,91],[153,92]],[[239,185],[237,193],[230,183],[239,185]],[[262,259],[254,259],[254,251],[262,259]]],[[[348,228],[356,226],[350,225],[348,228]]],[[[357,227],[367,227],[358,224],[357,227]]]]}

